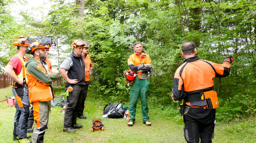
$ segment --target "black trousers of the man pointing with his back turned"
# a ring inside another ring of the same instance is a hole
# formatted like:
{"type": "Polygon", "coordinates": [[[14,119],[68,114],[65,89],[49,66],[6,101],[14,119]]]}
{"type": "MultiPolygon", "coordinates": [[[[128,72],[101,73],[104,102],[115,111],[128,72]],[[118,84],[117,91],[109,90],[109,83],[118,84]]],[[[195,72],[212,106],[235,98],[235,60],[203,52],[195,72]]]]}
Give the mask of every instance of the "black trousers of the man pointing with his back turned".
{"type": "Polygon", "coordinates": [[[214,138],[214,126],[215,126],[215,109],[204,108],[192,108],[183,115],[184,119],[184,138],[187,143],[212,143],[214,138]]]}

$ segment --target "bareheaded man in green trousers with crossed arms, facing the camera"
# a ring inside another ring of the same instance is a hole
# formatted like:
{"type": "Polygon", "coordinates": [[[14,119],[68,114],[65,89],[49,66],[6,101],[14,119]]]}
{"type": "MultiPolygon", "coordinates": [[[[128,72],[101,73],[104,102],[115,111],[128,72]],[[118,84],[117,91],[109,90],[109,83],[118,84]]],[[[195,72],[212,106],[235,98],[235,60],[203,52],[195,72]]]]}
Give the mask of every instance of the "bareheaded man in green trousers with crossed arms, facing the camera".
{"type": "Polygon", "coordinates": [[[149,90],[149,81],[147,80],[147,74],[151,70],[151,59],[143,51],[142,44],[140,42],[134,43],[135,53],[128,58],[128,65],[131,71],[136,72],[136,77],[130,88],[130,106],[129,106],[129,120],[128,126],[133,126],[135,121],[136,106],[138,98],[140,97],[142,106],[142,118],[143,123],[150,126],[148,106],[147,106],[147,94],[149,90]]]}

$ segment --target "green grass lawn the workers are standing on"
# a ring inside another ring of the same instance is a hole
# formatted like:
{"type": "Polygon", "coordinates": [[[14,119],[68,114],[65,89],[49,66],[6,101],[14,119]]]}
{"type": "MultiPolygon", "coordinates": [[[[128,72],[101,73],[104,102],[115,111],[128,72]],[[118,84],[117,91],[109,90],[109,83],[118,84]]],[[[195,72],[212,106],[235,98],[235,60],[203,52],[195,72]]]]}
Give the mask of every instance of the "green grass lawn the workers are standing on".
{"type": "MultiPolygon", "coordinates": [[[[5,95],[12,96],[11,88],[0,89],[0,100],[5,99],[5,95]]],[[[91,142],[111,142],[111,143],[185,143],[183,136],[183,122],[178,111],[155,108],[149,104],[150,121],[152,126],[142,123],[141,104],[138,102],[136,112],[136,122],[133,127],[127,126],[124,119],[103,119],[101,112],[106,101],[93,100],[90,95],[86,100],[85,109],[86,120],[78,119],[77,123],[84,126],[78,129],[77,134],[62,132],[64,114],[60,112],[60,107],[52,108],[48,128],[44,135],[45,143],[91,143],[91,142]],[[103,121],[105,130],[91,132],[92,120],[99,118],[103,121]]],[[[124,106],[128,106],[125,103],[124,106]]],[[[15,107],[7,107],[6,101],[0,102],[0,143],[16,143],[12,140],[13,118],[15,107]]],[[[234,120],[228,123],[217,123],[215,126],[214,143],[256,143],[256,118],[248,120],[234,120]]],[[[32,134],[29,133],[28,136],[32,134]]]]}

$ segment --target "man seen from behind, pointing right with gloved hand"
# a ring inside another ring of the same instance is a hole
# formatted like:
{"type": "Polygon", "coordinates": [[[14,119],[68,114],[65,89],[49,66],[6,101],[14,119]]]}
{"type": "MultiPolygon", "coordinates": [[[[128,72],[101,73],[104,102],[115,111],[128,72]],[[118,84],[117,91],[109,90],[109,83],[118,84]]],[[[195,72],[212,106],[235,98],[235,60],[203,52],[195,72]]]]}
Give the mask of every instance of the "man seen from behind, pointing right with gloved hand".
{"type": "Polygon", "coordinates": [[[186,60],[175,72],[171,98],[175,102],[182,100],[184,138],[188,143],[199,143],[199,138],[201,143],[212,143],[215,108],[219,105],[213,78],[227,77],[234,57],[224,57],[222,64],[199,59],[193,42],[184,43],[181,54],[186,60]]]}

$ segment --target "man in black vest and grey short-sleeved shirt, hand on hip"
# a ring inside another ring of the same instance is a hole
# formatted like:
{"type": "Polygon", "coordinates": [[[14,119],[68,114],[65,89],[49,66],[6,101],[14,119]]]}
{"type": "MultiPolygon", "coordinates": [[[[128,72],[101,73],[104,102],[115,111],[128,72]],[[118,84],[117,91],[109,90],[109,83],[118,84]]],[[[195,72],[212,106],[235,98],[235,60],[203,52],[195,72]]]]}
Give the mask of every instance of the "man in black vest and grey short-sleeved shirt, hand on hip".
{"type": "Polygon", "coordinates": [[[63,132],[76,133],[75,129],[83,128],[83,125],[76,123],[77,107],[82,106],[82,99],[85,91],[85,63],[82,51],[85,42],[81,39],[72,43],[72,52],[59,68],[61,76],[66,80],[65,89],[72,88],[69,92],[68,106],[65,109],[63,132]],[[66,73],[68,71],[68,73],[66,73]]]}

